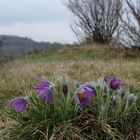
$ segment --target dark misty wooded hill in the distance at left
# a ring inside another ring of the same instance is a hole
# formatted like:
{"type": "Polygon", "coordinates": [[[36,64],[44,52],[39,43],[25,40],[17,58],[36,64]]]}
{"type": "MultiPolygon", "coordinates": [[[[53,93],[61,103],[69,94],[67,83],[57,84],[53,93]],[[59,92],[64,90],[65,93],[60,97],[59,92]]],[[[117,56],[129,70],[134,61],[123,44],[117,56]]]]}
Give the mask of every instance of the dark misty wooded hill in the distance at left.
{"type": "Polygon", "coordinates": [[[0,62],[62,46],[60,43],[36,42],[27,37],[0,35],[0,62]]]}

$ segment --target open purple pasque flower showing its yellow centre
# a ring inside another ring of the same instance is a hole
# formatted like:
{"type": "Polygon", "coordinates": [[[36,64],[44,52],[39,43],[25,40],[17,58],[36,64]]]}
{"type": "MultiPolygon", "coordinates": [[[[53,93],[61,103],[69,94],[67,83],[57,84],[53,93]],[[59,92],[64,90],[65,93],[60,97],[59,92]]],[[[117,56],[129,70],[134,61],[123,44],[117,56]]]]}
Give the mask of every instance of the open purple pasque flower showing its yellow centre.
{"type": "Polygon", "coordinates": [[[94,96],[95,94],[96,90],[92,83],[88,82],[79,87],[79,89],[76,91],[74,98],[80,110],[83,109],[82,105],[90,105],[90,97],[94,96]]]}

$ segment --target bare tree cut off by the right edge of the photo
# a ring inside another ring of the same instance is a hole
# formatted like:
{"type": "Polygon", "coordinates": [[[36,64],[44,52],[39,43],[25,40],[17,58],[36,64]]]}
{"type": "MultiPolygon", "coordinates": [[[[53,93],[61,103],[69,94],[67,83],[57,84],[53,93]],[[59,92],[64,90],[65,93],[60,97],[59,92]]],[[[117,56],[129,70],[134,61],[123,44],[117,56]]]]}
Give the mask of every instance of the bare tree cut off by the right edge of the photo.
{"type": "Polygon", "coordinates": [[[127,15],[121,40],[125,46],[140,48],[140,0],[126,0],[127,15]]]}

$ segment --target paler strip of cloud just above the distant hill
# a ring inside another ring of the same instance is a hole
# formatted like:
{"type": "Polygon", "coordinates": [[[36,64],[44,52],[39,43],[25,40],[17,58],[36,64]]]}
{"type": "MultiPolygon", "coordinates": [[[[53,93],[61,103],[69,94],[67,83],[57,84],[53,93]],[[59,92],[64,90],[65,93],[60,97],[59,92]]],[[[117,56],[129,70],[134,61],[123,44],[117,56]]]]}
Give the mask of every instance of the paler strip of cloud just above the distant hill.
{"type": "Polygon", "coordinates": [[[27,36],[36,41],[72,43],[75,37],[68,22],[15,23],[0,26],[1,34],[27,36]]]}

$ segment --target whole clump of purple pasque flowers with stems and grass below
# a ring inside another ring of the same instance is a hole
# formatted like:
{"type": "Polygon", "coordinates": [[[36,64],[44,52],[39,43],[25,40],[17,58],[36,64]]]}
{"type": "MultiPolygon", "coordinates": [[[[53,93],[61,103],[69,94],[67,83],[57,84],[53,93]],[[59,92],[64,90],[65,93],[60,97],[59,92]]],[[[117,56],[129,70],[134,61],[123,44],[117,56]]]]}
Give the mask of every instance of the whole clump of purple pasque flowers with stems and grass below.
{"type": "MultiPolygon", "coordinates": [[[[10,129],[10,135],[15,139],[17,136],[19,139],[45,139],[46,136],[48,139],[63,139],[62,133],[66,135],[64,139],[67,139],[71,128],[72,133],[80,134],[74,138],[81,139],[85,134],[95,131],[95,128],[92,128],[94,125],[101,126],[101,132],[106,132],[109,127],[111,132],[107,131],[105,137],[113,139],[122,138],[117,136],[118,133],[114,135],[114,132],[122,131],[122,126],[130,128],[135,125],[131,123],[139,116],[136,99],[125,83],[116,77],[100,78],[96,82],[74,83],[55,76],[52,82],[39,78],[33,90],[27,92],[24,98],[8,101],[9,108],[2,113],[16,122],[10,129]],[[127,124],[127,120],[130,123],[127,124]],[[120,122],[121,125],[118,125],[120,122]],[[20,125],[17,126],[18,124],[20,125]],[[80,131],[75,131],[77,127],[80,131]],[[81,132],[84,132],[83,135],[81,132]],[[111,137],[108,137],[109,135],[111,137]]],[[[100,139],[101,135],[98,134],[97,139],[100,139]]],[[[68,139],[73,139],[74,135],[68,139]]],[[[91,137],[94,137],[94,134],[88,138],[91,137]]]]}

